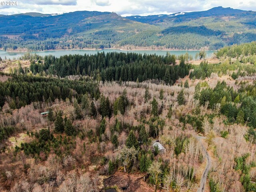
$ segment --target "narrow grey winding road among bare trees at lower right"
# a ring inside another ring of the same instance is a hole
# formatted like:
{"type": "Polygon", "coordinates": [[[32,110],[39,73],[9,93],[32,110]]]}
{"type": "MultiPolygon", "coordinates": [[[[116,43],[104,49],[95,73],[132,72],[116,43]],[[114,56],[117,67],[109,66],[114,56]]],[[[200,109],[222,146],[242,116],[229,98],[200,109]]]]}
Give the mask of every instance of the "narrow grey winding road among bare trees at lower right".
{"type": "Polygon", "coordinates": [[[204,169],[204,173],[202,174],[202,178],[201,178],[201,181],[200,181],[200,187],[197,190],[197,192],[204,192],[206,178],[207,178],[208,172],[209,172],[209,170],[211,168],[212,161],[211,161],[211,158],[210,158],[210,155],[209,155],[208,151],[206,150],[206,148],[203,146],[203,144],[201,142],[201,139],[205,139],[205,137],[203,137],[203,136],[196,136],[196,138],[199,140],[199,142],[202,145],[202,148],[204,148],[204,150],[206,152],[207,164],[206,164],[206,168],[204,169]]]}

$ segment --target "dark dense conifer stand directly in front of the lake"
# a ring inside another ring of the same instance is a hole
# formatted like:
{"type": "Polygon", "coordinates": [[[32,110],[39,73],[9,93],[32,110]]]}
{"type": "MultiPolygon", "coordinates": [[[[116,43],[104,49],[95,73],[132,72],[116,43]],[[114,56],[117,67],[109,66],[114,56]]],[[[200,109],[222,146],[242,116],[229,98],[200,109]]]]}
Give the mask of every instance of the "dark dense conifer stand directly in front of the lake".
{"type": "Polygon", "coordinates": [[[60,58],[45,56],[44,63],[31,63],[33,74],[44,71],[46,74],[60,77],[70,75],[92,76],[94,80],[103,81],[136,81],[163,80],[166,84],[173,84],[179,77],[188,74],[189,66],[174,65],[170,54],[157,56],[155,54],[104,52],[94,55],[65,55],[60,58]]]}

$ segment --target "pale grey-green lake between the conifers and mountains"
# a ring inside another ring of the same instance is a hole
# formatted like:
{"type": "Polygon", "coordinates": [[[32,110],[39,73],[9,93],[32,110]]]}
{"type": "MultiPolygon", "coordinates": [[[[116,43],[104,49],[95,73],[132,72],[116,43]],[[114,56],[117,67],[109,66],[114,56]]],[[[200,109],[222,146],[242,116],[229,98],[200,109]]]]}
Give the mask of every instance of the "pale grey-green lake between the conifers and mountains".
{"type": "MultiPolygon", "coordinates": [[[[54,55],[55,57],[60,57],[62,55],[67,55],[67,54],[80,54],[80,55],[84,55],[84,54],[96,54],[97,52],[135,52],[135,53],[141,53],[141,54],[157,54],[157,55],[166,55],[167,52],[169,52],[170,54],[175,54],[176,56],[181,55],[181,54],[185,54],[186,52],[188,52],[189,55],[192,55],[193,58],[195,57],[196,53],[199,53],[199,51],[190,51],[190,50],[171,50],[171,51],[167,51],[167,50],[119,50],[119,49],[105,49],[105,50],[54,50],[54,51],[33,51],[30,52],[31,54],[38,54],[40,56],[46,56],[46,55],[54,55]]],[[[216,51],[206,51],[206,58],[210,58],[213,53],[216,51]]],[[[13,59],[13,58],[19,58],[22,55],[24,55],[27,52],[6,52],[3,50],[0,50],[0,57],[1,58],[7,58],[7,59],[13,59]]]]}

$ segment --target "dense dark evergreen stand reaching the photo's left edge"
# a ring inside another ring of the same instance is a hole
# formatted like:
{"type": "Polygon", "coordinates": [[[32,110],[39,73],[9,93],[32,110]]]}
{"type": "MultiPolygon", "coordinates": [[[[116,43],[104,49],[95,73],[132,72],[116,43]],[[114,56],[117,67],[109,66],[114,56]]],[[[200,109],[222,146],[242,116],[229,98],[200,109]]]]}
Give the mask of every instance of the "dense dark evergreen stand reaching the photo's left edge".
{"type": "Polygon", "coordinates": [[[20,108],[36,101],[65,100],[81,98],[86,92],[93,97],[97,93],[97,84],[85,80],[66,80],[27,75],[12,75],[9,80],[0,82],[0,106],[7,98],[11,108],[20,108]]]}

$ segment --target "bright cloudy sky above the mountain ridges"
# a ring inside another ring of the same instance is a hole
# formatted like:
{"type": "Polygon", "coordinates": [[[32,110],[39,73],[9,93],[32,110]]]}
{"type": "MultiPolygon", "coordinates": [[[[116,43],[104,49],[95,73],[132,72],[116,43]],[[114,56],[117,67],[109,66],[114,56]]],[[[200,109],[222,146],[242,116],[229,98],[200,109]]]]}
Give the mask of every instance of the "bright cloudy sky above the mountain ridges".
{"type": "MultiPolygon", "coordinates": [[[[6,1],[0,0],[5,4],[6,1]]],[[[122,16],[129,16],[201,11],[216,6],[256,11],[255,0],[17,0],[17,3],[17,6],[0,5],[0,14],[61,14],[88,10],[114,11],[122,16]]]]}

